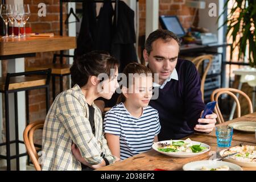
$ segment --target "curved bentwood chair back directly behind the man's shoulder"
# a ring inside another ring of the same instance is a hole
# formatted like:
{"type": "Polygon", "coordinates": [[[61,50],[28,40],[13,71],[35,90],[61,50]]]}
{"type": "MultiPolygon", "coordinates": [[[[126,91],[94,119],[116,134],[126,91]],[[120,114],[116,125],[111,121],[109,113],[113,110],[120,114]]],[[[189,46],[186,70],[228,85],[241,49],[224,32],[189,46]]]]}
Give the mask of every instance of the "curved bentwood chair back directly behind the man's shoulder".
{"type": "Polygon", "coordinates": [[[204,70],[203,76],[201,78],[201,92],[202,92],[202,99],[204,101],[204,83],[205,79],[207,77],[207,73],[209,71],[210,65],[212,64],[213,55],[203,55],[195,57],[195,59],[192,60],[192,63],[196,65],[197,71],[199,70],[199,66],[201,63],[203,63],[204,60],[209,60],[207,67],[204,70]]]}

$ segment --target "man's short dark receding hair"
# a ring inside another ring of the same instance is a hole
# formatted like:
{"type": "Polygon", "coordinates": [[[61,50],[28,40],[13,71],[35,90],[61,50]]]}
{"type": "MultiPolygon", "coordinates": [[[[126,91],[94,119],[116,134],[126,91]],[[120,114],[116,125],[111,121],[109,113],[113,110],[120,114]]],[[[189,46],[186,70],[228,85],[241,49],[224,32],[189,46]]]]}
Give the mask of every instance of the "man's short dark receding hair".
{"type": "Polygon", "coordinates": [[[158,29],[152,32],[146,40],[145,49],[148,55],[150,55],[150,52],[152,51],[152,43],[157,39],[162,39],[164,42],[170,42],[172,39],[174,39],[180,47],[180,39],[176,34],[174,34],[174,32],[158,29]]]}

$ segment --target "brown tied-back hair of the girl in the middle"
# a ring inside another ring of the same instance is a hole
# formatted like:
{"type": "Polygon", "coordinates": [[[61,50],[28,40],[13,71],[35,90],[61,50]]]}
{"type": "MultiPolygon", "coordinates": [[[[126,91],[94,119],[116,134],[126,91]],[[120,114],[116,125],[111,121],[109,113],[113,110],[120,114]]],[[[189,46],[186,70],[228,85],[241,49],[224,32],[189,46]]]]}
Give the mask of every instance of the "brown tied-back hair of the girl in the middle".
{"type": "MultiPolygon", "coordinates": [[[[151,70],[144,66],[143,64],[139,64],[139,63],[130,63],[127,64],[125,69],[123,69],[123,74],[126,75],[126,85],[127,88],[129,88],[129,73],[138,73],[139,75],[144,74],[145,76],[152,76],[152,72],[151,70]]],[[[121,102],[125,102],[125,96],[121,93],[117,99],[117,104],[121,103],[121,102]]]]}

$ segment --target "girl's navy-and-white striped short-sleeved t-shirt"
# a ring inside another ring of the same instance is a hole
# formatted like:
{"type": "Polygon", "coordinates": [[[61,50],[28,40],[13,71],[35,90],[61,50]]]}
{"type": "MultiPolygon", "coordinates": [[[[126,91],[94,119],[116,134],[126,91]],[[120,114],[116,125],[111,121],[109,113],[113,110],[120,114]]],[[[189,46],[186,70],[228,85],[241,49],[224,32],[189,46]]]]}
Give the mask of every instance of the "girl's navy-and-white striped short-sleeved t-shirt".
{"type": "Polygon", "coordinates": [[[118,104],[106,113],[104,131],[119,137],[122,160],[140,154],[151,149],[160,132],[158,111],[147,106],[141,117],[135,118],[123,103],[118,104]]]}

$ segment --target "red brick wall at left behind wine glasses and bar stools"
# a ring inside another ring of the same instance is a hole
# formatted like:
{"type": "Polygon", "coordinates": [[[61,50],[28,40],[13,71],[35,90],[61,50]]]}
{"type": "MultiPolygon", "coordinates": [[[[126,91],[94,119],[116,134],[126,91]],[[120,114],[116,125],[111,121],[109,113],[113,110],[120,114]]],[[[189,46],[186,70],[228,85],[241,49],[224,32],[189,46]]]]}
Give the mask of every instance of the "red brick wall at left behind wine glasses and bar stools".
{"type": "MultiPolygon", "coordinates": [[[[32,32],[49,33],[53,32],[59,35],[60,32],[60,5],[59,0],[24,0],[24,4],[30,5],[31,18],[28,20],[27,26],[32,28],[32,32]],[[38,16],[38,4],[46,3],[46,17],[38,16]]],[[[65,20],[67,3],[63,5],[63,21],[65,20]]],[[[63,24],[65,30],[65,24],[63,24]]],[[[67,31],[63,31],[67,35],[67,31]]],[[[53,53],[59,52],[43,52],[36,53],[36,57],[25,59],[25,67],[52,63],[53,53]]],[[[67,79],[64,79],[64,89],[67,88],[67,79]]],[[[52,88],[52,85],[50,86],[52,88]]],[[[56,78],[56,94],[59,91],[59,79],[56,78]]],[[[52,91],[50,92],[50,104],[52,103],[52,91]]],[[[30,122],[38,121],[46,117],[46,93],[44,89],[31,90],[29,96],[30,102],[30,122]]]]}

